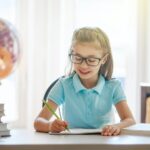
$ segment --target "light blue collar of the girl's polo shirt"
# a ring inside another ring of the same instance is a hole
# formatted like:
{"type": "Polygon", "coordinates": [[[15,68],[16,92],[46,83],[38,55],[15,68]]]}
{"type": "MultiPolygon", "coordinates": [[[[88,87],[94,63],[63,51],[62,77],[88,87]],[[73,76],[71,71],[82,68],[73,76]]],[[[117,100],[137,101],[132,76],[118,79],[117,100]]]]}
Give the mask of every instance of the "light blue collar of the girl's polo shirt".
{"type": "MultiPolygon", "coordinates": [[[[79,79],[79,76],[76,73],[73,76],[73,85],[74,85],[76,93],[78,93],[80,91],[84,91],[84,90],[85,91],[89,90],[82,85],[82,83],[79,79]]],[[[102,75],[100,75],[97,85],[90,90],[96,91],[100,95],[104,85],[105,85],[105,78],[102,75]]]]}

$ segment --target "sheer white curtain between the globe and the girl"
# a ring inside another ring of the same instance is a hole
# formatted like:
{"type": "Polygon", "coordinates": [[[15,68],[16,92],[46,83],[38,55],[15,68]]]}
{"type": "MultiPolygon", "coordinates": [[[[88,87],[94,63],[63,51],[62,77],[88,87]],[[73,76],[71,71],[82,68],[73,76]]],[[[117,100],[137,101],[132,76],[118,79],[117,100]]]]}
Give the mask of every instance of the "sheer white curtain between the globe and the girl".
{"type": "Polygon", "coordinates": [[[74,0],[17,0],[16,24],[23,51],[18,69],[17,127],[33,128],[46,88],[63,75],[62,59],[74,30],[74,10],[74,0]]]}

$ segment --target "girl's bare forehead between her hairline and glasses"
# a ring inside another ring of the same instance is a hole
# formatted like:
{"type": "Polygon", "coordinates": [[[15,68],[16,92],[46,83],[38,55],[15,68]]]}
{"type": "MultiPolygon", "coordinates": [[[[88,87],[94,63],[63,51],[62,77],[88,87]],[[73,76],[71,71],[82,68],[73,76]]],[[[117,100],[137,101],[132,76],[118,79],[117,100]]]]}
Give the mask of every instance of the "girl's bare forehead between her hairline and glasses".
{"type": "Polygon", "coordinates": [[[103,54],[103,50],[101,50],[100,48],[96,48],[93,44],[89,43],[75,44],[74,46],[72,46],[72,50],[73,52],[81,54],[83,56],[101,56],[103,54]]]}

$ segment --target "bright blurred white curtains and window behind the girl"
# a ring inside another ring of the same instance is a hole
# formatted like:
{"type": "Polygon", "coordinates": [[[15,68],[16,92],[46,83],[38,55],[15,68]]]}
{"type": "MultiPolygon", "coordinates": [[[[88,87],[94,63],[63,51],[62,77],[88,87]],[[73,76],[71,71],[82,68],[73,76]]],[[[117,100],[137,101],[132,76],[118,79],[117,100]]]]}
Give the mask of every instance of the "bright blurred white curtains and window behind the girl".
{"type": "Polygon", "coordinates": [[[149,0],[0,0],[0,18],[16,27],[22,51],[18,68],[0,86],[12,128],[33,128],[47,87],[65,73],[72,33],[83,26],[107,33],[113,76],[140,122],[140,84],[150,83],[149,0]]]}

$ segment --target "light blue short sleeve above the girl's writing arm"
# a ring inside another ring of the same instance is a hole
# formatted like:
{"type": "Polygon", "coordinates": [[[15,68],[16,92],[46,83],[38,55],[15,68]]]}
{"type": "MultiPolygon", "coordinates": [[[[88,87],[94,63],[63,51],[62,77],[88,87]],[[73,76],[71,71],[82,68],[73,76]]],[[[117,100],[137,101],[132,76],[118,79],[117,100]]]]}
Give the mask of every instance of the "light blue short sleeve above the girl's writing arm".
{"type": "Polygon", "coordinates": [[[57,105],[64,102],[64,90],[62,85],[62,79],[59,79],[48,94],[48,99],[54,101],[57,105]]]}

